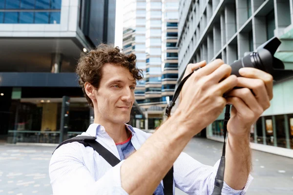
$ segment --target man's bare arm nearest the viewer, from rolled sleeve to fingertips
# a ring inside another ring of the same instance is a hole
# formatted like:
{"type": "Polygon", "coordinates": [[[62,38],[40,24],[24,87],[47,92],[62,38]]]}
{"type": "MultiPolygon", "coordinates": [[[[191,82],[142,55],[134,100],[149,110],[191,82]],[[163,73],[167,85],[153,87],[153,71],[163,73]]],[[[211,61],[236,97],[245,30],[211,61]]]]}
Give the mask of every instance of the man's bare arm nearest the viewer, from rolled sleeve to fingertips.
{"type": "Polygon", "coordinates": [[[128,194],[152,194],[191,137],[219,116],[226,105],[223,94],[237,83],[235,76],[228,77],[230,71],[217,59],[188,78],[174,115],[122,164],[122,187],[128,194]]]}

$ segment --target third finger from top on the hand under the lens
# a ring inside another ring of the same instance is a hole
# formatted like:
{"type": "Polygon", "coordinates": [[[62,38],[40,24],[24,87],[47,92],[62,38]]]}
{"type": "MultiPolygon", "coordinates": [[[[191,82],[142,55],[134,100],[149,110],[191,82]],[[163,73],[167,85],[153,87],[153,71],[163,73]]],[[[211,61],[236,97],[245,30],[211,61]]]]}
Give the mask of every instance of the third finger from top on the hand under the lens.
{"type": "Polygon", "coordinates": [[[261,115],[264,112],[264,109],[256,100],[256,98],[251,93],[249,88],[234,89],[228,94],[229,97],[237,97],[242,99],[242,101],[255,113],[256,115],[261,115]]]}

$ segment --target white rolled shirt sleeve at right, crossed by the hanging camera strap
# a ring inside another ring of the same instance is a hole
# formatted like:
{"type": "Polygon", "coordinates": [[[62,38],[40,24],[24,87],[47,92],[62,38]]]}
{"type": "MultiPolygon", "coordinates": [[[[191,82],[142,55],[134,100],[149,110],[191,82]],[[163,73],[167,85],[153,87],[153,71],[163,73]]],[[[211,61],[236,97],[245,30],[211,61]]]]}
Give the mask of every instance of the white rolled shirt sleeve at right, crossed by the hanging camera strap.
{"type": "MultiPolygon", "coordinates": [[[[186,153],[181,153],[174,163],[175,187],[188,195],[211,195],[219,161],[214,166],[204,165],[186,153]]],[[[248,178],[243,190],[234,190],[224,182],[222,195],[245,195],[252,180],[248,178]]]]}

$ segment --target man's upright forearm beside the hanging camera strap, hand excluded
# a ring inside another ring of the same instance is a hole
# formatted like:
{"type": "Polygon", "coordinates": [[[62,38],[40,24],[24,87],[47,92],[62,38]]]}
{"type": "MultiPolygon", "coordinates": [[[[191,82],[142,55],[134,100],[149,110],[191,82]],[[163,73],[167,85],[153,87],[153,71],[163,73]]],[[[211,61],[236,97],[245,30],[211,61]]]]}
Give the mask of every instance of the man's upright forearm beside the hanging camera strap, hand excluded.
{"type": "Polygon", "coordinates": [[[242,190],[251,171],[251,149],[247,135],[228,136],[224,181],[235,190],[242,190]]]}

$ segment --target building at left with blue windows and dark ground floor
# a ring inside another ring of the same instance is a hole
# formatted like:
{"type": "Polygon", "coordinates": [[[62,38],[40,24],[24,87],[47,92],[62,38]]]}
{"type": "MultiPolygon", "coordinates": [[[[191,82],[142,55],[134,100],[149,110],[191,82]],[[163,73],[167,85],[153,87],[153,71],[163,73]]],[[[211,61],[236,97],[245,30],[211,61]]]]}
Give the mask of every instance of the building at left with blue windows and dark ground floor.
{"type": "MultiPolygon", "coordinates": [[[[63,96],[70,98],[68,134],[86,130],[94,116],[74,72],[82,52],[101,42],[114,43],[115,4],[0,0],[3,138],[17,133],[19,141],[58,142],[63,96]]],[[[135,105],[131,124],[139,112],[135,105]]]]}

